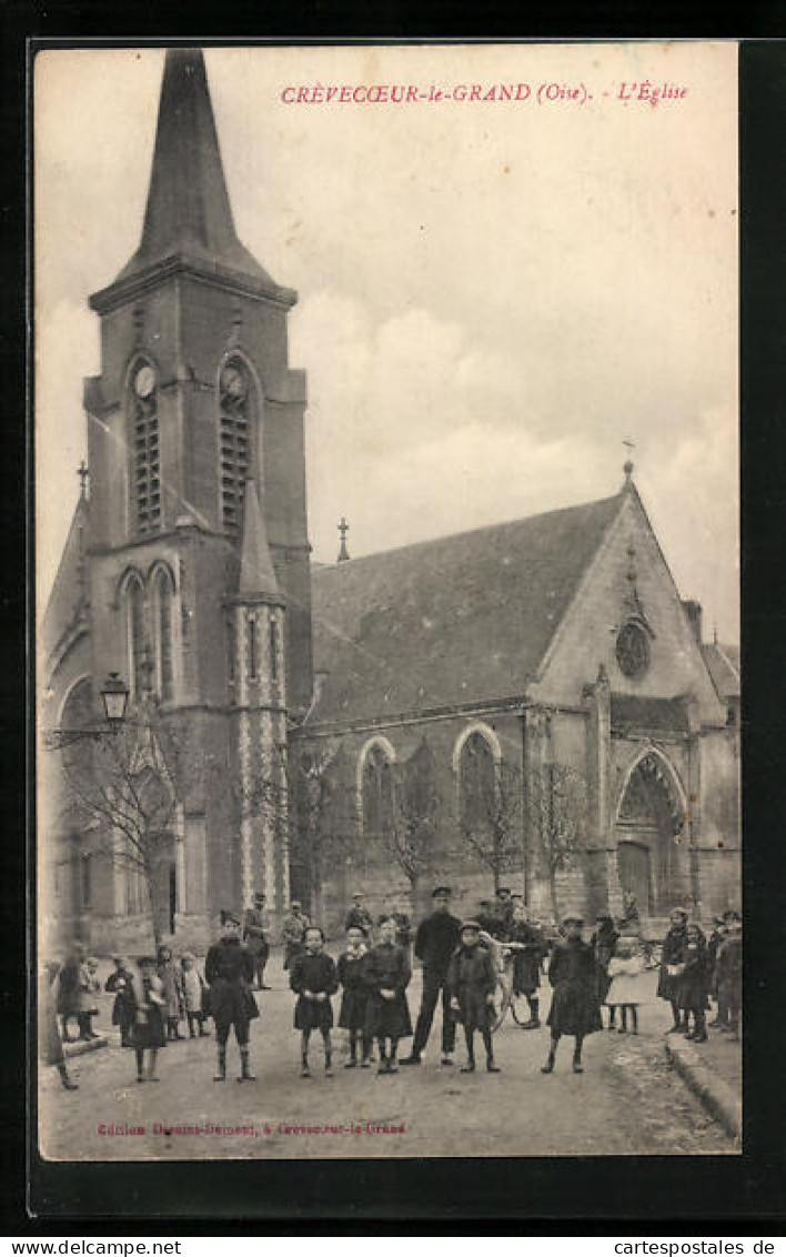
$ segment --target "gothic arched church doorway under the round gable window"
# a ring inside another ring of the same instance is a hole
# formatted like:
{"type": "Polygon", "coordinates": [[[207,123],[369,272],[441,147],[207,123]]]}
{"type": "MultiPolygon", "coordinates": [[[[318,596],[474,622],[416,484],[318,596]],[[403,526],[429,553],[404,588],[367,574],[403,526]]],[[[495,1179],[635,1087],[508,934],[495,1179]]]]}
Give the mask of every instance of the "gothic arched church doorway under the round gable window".
{"type": "Polygon", "coordinates": [[[664,915],[689,881],[685,815],[675,778],[660,755],[635,766],[616,820],[616,861],[623,892],[636,896],[639,911],[664,915]]]}

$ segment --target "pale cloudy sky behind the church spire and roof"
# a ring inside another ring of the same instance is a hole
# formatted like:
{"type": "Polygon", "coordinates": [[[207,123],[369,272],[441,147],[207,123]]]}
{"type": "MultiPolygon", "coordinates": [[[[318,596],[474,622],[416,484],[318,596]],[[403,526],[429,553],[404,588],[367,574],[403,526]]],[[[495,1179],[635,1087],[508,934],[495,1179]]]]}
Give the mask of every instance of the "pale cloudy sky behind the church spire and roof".
{"type": "MultiPolygon", "coordinates": [[[[101,366],[87,297],[138,244],[162,64],[160,49],[36,63],[42,600],[78,494],[82,377],[101,366]]],[[[341,514],[358,556],[607,497],[631,440],[680,592],[738,640],[736,47],[210,49],[206,64],[238,234],[301,295],[314,557],[335,559],[341,514]],[[687,94],[620,99],[648,80],[687,94]],[[531,96],[282,101],[499,83],[531,96]],[[550,83],[587,98],[538,104],[550,83]]]]}

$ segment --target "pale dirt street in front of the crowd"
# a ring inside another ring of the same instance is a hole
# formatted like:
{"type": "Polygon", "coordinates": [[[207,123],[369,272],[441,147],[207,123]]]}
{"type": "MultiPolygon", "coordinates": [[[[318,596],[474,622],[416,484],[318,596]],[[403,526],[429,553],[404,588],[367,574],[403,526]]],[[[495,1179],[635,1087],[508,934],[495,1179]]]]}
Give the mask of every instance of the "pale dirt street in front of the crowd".
{"type": "MultiPolygon", "coordinates": [[[[494,1036],[498,1075],[485,1073],[479,1043],[478,1072],[459,1072],[460,1029],[453,1068],[440,1066],[433,1031],[419,1067],[390,1077],[379,1077],[376,1067],[345,1070],[346,1035],[336,1029],[335,1077],[324,1077],[317,1037],[313,1076],[303,1080],[294,997],[278,957],[268,980],[274,989],[257,996],[262,1017],[252,1029],[257,1082],[235,1081],[234,1043],[228,1081],[213,1082],[211,1036],[170,1045],[158,1057],[161,1081],[138,1086],[133,1053],[117,1046],[112,1029],[109,1048],[72,1062],[78,1091],[64,1091],[54,1070],[42,1071],[42,1153],[55,1160],[177,1160],[736,1151],[668,1065],[663,1032],[670,1018],[661,1001],[641,1008],[638,1037],[604,1031],[587,1038],[584,1075],[571,1072],[567,1040],[555,1073],[543,1076],[547,1029],[522,1031],[508,1016],[494,1036]],[[184,1129],[195,1126],[196,1133],[184,1129]]],[[[412,1022],[419,994],[416,973],[409,993],[412,1022]]],[[[541,998],[547,1012],[545,988],[541,998]]],[[[337,1013],[338,999],[333,1003],[337,1013]]],[[[106,997],[98,1029],[109,1026],[109,1016],[106,997]]]]}

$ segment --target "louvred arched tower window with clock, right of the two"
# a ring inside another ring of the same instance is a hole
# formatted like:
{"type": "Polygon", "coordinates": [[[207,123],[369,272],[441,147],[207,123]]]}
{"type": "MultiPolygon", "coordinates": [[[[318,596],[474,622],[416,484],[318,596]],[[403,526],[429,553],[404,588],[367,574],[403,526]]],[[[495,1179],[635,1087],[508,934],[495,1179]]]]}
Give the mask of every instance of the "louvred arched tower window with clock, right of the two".
{"type": "Polygon", "coordinates": [[[243,522],[243,494],[252,470],[254,382],[239,357],[229,358],[219,377],[219,446],[221,523],[236,535],[243,522]]]}

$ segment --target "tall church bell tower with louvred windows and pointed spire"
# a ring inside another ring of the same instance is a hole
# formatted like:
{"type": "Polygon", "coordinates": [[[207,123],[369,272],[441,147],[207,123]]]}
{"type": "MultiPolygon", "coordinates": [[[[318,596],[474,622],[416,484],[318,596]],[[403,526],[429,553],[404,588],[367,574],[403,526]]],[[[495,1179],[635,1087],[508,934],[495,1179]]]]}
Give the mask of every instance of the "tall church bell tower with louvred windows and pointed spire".
{"type": "Polygon", "coordinates": [[[275,910],[288,894],[273,840],[240,832],[235,783],[240,748],[250,779],[312,698],[296,302],[238,239],[202,53],[170,49],[140,246],[89,300],[102,370],[84,402],[94,675],[119,671],[132,700],[147,676],[162,718],[195,748],[180,808],[182,918],[243,908],[253,890],[275,910]],[[258,713],[245,724],[244,704],[258,713]],[[270,745],[257,745],[262,730],[270,745]],[[226,797],[199,764],[231,782],[226,797]]]}

